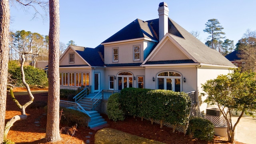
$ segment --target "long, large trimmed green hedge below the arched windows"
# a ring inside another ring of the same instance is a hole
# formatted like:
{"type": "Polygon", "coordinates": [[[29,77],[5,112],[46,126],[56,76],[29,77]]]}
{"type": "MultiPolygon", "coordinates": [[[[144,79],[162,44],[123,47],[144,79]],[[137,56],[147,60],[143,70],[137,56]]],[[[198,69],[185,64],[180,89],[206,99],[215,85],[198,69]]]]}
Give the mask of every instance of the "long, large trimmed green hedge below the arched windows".
{"type": "MultiPolygon", "coordinates": [[[[189,121],[191,101],[188,94],[184,92],[124,88],[120,92],[120,99],[116,99],[116,102],[120,102],[121,109],[126,115],[183,126],[189,121]]],[[[116,106],[112,111],[117,111],[117,108],[120,110],[120,106],[116,106]]]]}

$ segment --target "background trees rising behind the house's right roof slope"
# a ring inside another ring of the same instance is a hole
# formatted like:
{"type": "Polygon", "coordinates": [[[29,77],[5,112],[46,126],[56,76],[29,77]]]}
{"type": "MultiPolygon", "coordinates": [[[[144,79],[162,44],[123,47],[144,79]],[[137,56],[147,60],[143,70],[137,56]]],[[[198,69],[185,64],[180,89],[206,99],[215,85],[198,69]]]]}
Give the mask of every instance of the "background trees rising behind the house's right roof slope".
{"type": "MultiPolygon", "coordinates": [[[[236,50],[240,60],[239,66],[242,71],[252,70],[256,72],[256,31],[246,30],[244,35],[234,46],[234,40],[226,38],[224,28],[220,25],[218,19],[210,19],[205,24],[204,32],[209,34],[205,45],[214,50],[218,50],[223,56],[226,56],[236,50]]],[[[190,32],[196,38],[199,37],[198,31],[190,32]]]]}

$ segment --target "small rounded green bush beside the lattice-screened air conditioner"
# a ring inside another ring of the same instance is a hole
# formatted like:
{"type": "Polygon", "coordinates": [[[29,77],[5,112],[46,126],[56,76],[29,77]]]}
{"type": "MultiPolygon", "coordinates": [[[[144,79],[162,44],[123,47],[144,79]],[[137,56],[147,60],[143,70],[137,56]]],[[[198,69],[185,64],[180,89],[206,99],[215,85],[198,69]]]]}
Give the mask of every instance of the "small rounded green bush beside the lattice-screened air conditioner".
{"type": "Polygon", "coordinates": [[[214,136],[214,125],[204,118],[193,117],[189,121],[187,133],[191,138],[210,141],[214,136]]]}

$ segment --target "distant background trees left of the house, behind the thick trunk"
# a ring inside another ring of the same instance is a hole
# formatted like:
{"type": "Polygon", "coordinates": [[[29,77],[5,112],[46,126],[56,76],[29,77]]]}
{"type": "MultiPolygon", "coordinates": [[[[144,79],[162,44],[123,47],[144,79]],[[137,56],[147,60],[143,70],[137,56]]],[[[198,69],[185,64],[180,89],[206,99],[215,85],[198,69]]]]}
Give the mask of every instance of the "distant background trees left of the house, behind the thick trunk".
{"type": "MultiPolygon", "coordinates": [[[[49,36],[41,35],[37,32],[30,32],[26,30],[18,30],[10,32],[9,36],[9,60],[18,60],[21,62],[21,53],[30,52],[26,54],[26,64],[35,67],[38,58],[48,58],[49,51],[49,36]]],[[[73,40],[67,44],[60,42],[60,54],[62,54],[69,45],[76,46],[73,40]]]]}

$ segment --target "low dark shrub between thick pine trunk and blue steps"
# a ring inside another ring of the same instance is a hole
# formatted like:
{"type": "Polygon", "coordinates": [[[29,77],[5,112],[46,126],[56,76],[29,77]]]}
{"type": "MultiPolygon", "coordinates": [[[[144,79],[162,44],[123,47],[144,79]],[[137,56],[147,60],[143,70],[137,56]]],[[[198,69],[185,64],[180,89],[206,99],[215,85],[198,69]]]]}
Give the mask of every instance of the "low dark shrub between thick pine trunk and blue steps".
{"type": "Polygon", "coordinates": [[[78,110],[72,110],[68,108],[60,107],[62,110],[62,116],[60,118],[60,123],[65,126],[87,126],[89,116],[78,110]]]}

